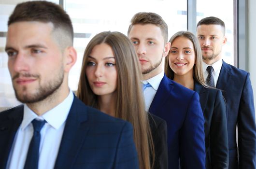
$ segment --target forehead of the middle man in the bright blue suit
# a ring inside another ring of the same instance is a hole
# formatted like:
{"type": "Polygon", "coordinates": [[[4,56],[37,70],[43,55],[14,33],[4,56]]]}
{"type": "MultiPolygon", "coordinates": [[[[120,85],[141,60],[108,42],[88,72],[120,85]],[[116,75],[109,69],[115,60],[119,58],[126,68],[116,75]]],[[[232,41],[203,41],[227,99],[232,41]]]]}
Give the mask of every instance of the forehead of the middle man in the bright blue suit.
{"type": "Polygon", "coordinates": [[[164,40],[162,35],[161,28],[157,27],[154,24],[136,24],[131,27],[131,30],[128,34],[130,39],[156,39],[156,40],[164,40]]]}

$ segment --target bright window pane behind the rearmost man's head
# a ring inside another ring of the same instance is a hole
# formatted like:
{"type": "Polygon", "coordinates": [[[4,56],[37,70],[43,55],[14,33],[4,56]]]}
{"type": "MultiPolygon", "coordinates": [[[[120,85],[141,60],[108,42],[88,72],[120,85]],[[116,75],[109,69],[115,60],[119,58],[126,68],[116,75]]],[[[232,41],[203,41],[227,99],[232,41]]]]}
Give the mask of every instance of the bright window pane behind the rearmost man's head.
{"type": "Polygon", "coordinates": [[[227,43],[223,46],[222,58],[231,65],[234,65],[233,6],[233,0],[197,0],[197,23],[208,16],[218,17],[225,23],[227,43]]]}

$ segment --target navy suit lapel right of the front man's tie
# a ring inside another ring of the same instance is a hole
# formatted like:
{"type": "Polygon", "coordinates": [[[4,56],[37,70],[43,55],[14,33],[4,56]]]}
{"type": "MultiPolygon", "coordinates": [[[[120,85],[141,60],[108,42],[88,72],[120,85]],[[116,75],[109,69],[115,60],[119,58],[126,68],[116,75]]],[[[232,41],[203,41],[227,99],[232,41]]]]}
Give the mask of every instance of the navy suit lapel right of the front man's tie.
{"type": "Polygon", "coordinates": [[[61,139],[55,169],[72,169],[75,159],[85,141],[87,112],[85,105],[74,96],[61,139]]]}

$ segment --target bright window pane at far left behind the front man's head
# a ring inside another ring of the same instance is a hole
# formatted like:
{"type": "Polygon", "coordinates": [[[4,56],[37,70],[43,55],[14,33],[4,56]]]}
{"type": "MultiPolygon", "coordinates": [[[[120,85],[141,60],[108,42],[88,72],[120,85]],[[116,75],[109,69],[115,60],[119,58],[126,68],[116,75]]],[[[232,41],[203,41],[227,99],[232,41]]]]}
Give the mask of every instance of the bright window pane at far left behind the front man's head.
{"type": "MultiPolygon", "coordinates": [[[[20,104],[15,96],[11,77],[7,68],[8,57],[4,51],[7,22],[17,3],[24,0],[0,0],[0,111],[20,104]]],[[[58,0],[50,0],[58,3],[58,0]]]]}

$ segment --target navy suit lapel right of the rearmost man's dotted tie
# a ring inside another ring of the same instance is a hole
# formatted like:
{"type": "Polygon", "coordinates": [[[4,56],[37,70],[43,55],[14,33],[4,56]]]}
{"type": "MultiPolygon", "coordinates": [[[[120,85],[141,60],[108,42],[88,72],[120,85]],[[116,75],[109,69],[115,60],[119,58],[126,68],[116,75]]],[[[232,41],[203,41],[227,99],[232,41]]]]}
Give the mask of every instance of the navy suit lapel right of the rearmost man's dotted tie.
{"type": "Polygon", "coordinates": [[[223,91],[226,90],[228,80],[231,76],[230,68],[226,62],[223,61],[222,67],[220,70],[220,75],[216,84],[216,88],[221,89],[223,91]]]}

